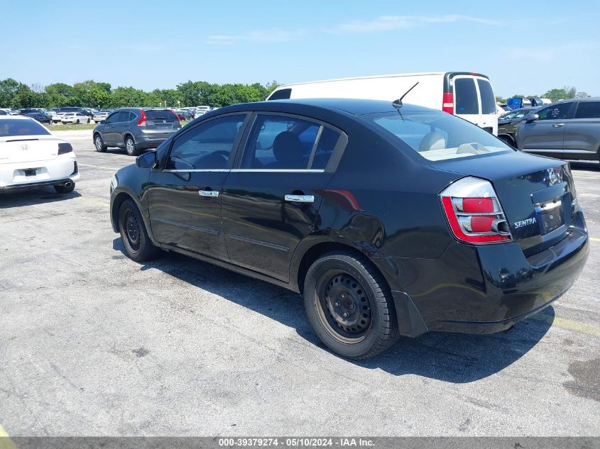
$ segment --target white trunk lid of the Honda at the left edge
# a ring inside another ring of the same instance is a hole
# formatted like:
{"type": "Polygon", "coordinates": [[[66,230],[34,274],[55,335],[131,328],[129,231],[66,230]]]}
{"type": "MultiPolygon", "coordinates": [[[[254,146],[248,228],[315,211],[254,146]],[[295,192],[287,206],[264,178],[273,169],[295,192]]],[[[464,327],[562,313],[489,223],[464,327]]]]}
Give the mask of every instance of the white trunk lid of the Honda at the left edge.
{"type": "Polygon", "coordinates": [[[13,135],[0,137],[0,164],[36,162],[55,159],[58,144],[51,135],[13,135]]]}

